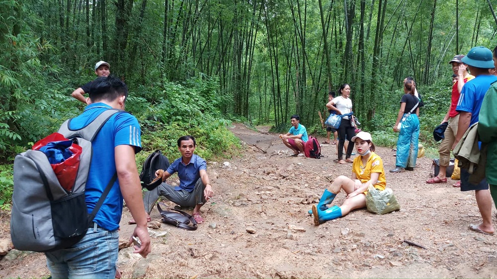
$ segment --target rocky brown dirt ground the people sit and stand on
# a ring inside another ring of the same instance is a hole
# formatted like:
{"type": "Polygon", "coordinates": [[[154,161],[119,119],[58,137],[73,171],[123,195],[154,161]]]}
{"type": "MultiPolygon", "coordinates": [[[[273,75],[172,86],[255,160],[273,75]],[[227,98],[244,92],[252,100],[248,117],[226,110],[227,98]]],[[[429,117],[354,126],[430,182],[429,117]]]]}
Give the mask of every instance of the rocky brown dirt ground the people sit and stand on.
{"type": "MultiPolygon", "coordinates": [[[[474,192],[460,192],[450,179],[425,184],[431,159],[418,159],[412,172],[387,172],[399,211],[359,209],[315,226],[307,210],[336,176],[350,176],[351,165],[333,162],[329,144],[321,159],[289,157],[277,135],[258,129],[235,124],[244,154],[208,163],[216,193],[202,208],[206,222],[196,231],[167,224],[150,229],[147,259],[131,247],[120,251],[123,278],[496,278],[497,235],[468,229],[480,221],[474,192]]],[[[377,153],[386,170],[395,167],[391,148],[377,153]]],[[[156,209],[151,216],[160,219],[156,209]]],[[[123,242],[133,230],[130,217],[124,209],[123,242]]],[[[0,222],[0,246],[8,246],[8,216],[0,222]]],[[[0,260],[1,278],[48,276],[43,254],[14,249],[0,260]]]]}

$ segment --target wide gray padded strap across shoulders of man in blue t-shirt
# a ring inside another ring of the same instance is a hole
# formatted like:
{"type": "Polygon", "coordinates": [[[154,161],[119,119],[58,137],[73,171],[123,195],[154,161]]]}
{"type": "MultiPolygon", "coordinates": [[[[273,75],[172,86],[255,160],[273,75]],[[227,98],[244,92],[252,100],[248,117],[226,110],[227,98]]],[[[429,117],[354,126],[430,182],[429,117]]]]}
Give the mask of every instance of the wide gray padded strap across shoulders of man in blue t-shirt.
{"type": "Polygon", "coordinates": [[[118,109],[105,110],[95,119],[93,119],[93,121],[91,121],[88,125],[86,125],[85,127],[79,130],[70,129],[69,127],[72,119],[68,119],[66,122],[62,124],[61,128],[59,129],[59,133],[64,135],[64,137],[66,138],[80,137],[88,141],[93,141],[93,139],[96,137],[98,132],[100,132],[100,129],[102,129],[103,125],[107,122],[107,120],[109,120],[111,116],[113,116],[118,112],[126,112],[126,111],[118,109]]]}

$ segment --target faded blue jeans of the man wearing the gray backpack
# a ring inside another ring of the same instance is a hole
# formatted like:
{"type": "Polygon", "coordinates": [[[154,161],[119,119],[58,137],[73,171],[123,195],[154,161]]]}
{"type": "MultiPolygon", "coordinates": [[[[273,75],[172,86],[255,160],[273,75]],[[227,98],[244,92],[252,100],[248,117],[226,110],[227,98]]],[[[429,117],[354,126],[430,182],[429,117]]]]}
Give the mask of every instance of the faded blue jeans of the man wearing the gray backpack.
{"type": "Polygon", "coordinates": [[[116,274],[119,233],[89,228],[73,247],[45,253],[52,278],[110,278],[116,274]]]}

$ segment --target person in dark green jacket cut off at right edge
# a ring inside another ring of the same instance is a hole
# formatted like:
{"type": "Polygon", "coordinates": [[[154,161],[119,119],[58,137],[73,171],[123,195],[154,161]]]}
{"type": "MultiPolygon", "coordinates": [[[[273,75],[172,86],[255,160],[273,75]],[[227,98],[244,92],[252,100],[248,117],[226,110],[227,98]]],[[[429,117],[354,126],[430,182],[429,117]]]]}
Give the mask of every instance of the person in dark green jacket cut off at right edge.
{"type": "MultiPolygon", "coordinates": [[[[494,66],[497,69],[497,46],[494,49],[494,66]]],[[[497,82],[490,86],[485,94],[480,110],[478,136],[482,142],[488,143],[485,175],[490,183],[490,193],[497,207],[497,82]]]]}

